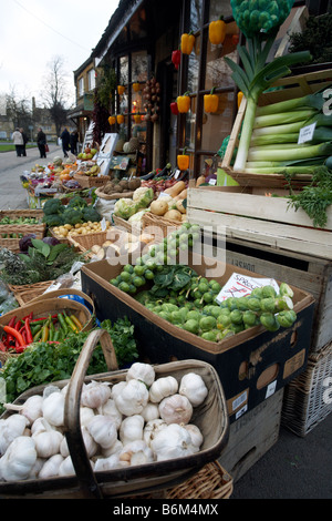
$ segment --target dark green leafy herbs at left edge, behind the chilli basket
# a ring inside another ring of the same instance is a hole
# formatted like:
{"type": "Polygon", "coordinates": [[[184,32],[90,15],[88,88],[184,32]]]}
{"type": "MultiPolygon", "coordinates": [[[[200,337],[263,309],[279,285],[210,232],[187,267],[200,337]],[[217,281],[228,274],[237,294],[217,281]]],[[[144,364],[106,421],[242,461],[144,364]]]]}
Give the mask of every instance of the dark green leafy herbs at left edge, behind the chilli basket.
{"type": "Polygon", "coordinates": [[[75,262],[84,262],[85,257],[77,254],[68,244],[51,246],[41,239],[31,241],[33,247],[28,248],[28,255],[10,255],[2,251],[0,262],[3,262],[1,279],[7,284],[24,285],[43,280],[55,280],[69,273],[75,262]]]}

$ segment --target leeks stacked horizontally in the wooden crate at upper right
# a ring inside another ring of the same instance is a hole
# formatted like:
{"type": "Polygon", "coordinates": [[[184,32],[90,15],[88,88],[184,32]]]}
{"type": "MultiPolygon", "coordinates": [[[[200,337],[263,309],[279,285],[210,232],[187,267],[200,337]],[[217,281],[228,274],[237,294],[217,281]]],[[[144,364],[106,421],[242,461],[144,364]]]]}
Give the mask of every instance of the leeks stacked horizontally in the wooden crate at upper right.
{"type": "Polygon", "coordinates": [[[332,115],[323,112],[323,89],[314,94],[258,106],[245,172],[311,174],[332,155],[332,115]],[[314,125],[310,141],[299,144],[302,127],[314,125]]]}

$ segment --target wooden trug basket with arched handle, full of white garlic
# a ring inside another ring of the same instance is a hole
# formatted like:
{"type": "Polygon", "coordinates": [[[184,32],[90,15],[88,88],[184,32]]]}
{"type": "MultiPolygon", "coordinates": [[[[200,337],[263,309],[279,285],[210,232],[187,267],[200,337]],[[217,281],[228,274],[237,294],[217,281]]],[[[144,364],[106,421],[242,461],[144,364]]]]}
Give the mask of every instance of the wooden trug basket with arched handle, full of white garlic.
{"type": "Polygon", "coordinates": [[[181,360],[117,368],[111,336],[87,337],[70,380],[22,394],[0,419],[1,498],[120,498],[186,481],[229,433],[215,369],[181,360]],[[110,372],[86,377],[101,345],[110,372]]]}

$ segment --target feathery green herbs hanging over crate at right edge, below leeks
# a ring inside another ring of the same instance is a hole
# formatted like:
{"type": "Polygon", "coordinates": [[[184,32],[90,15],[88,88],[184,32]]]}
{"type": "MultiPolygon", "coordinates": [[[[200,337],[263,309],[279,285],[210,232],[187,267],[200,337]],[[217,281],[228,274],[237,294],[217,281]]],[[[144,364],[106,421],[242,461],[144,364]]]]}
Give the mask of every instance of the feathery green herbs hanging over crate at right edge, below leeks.
{"type": "Polygon", "coordinates": [[[289,184],[289,206],[295,211],[302,208],[312,219],[313,226],[324,228],[328,222],[326,210],[332,204],[332,171],[326,166],[313,170],[312,180],[299,194],[291,186],[292,176],[284,172],[289,184]]]}

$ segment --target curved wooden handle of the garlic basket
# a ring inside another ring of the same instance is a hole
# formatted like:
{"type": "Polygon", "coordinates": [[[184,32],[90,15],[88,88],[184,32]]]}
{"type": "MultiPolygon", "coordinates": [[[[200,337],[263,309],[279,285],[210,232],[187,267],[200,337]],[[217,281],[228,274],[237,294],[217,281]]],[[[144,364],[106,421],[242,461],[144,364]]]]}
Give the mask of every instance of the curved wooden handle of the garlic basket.
{"type": "Polygon", "coordinates": [[[81,421],[80,401],[82,387],[92,354],[101,343],[108,370],[117,370],[117,360],[110,334],[105,329],[92,331],[83,345],[77,358],[65,396],[64,432],[80,488],[86,499],[102,499],[102,491],[95,479],[84,446],[81,421]]]}

